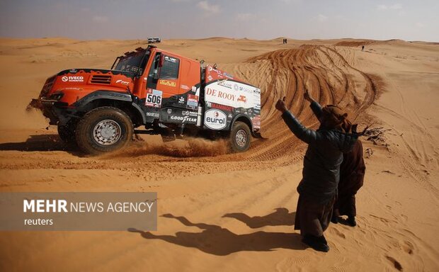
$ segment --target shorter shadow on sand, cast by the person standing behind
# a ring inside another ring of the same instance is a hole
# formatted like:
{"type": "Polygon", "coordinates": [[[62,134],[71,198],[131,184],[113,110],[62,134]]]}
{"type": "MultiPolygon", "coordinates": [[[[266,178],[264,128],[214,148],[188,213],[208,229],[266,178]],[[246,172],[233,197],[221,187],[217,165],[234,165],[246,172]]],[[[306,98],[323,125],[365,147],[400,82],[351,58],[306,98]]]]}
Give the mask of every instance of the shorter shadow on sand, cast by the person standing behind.
{"type": "Polygon", "coordinates": [[[227,213],[222,217],[232,217],[236,220],[244,222],[252,229],[266,226],[293,226],[295,222],[296,212],[288,212],[287,208],[276,208],[275,212],[265,216],[249,217],[242,212],[227,213]]]}

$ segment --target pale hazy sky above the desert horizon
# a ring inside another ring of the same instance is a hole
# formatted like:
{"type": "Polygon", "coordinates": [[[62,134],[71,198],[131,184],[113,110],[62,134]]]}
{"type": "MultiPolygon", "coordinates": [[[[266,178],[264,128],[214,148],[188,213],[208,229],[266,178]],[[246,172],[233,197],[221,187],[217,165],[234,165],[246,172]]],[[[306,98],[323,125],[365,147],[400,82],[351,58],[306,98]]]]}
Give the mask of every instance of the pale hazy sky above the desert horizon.
{"type": "Polygon", "coordinates": [[[439,0],[0,0],[0,36],[439,42],[439,0]]]}

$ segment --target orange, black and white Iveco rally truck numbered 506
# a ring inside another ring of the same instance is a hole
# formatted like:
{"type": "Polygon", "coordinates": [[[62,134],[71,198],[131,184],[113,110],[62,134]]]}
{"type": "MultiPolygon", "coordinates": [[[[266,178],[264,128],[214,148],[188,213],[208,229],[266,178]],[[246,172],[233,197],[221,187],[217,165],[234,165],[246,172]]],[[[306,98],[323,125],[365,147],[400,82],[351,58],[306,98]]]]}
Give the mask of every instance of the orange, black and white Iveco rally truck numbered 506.
{"type": "Polygon", "coordinates": [[[109,70],[59,72],[31,105],[64,142],[89,154],[120,149],[133,134],[228,137],[234,152],[261,137],[258,87],[154,45],[117,57],[109,70]]]}

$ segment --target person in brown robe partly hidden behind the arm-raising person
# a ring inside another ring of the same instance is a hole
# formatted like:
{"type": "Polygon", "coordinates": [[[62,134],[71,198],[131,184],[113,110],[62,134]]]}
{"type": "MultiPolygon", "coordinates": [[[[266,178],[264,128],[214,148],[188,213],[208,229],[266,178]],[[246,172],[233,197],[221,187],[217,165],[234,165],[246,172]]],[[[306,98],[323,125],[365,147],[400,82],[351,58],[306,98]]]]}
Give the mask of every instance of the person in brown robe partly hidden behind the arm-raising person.
{"type": "Polygon", "coordinates": [[[355,194],[363,186],[365,176],[365,162],[363,159],[363,145],[360,140],[355,142],[351,152],[343,154],[340,166],[340,181],[338,182],[338,196],[333,205],[331,222],[338,223],[341,215],[348,215],[348,224],[357,225],[355,216],[355,194]]]}

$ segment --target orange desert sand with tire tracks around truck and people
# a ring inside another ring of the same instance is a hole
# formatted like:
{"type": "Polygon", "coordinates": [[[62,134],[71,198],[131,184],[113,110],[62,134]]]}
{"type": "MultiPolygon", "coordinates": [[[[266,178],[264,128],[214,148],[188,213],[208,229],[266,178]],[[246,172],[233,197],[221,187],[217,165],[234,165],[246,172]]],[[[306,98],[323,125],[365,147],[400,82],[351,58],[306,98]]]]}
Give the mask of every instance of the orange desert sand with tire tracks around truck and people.
{"type": "Polygon", "coordinates": [[[156,232],[1,232],[1,271],[438,271],[439,44],[403,40],[164,40],[262,91],[262,134],[224,142],[144,142],[102,157],[66,149],[38,111],[47,77],[108,68],[144,40],[0,39],[1,191],[156,191],[156,232]],[[365,50],[361,50],[361,45],[365,50]],[[306,248],[294,216],[306,146],[274,103],[316,128],[303,90],[347,108],[367,140],[357,227],[331,224],[331,250],[306,248]],[[367,151],[367,153],[366,153],[367,151]]]}

